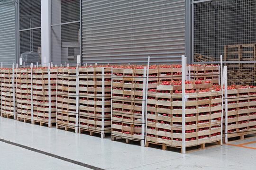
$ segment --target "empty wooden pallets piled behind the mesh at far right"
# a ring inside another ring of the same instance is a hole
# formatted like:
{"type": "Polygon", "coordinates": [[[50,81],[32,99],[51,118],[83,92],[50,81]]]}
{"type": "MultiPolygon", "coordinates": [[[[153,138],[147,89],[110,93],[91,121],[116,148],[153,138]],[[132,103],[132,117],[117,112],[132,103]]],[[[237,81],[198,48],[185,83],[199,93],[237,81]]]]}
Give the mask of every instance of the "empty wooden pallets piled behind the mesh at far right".
{"type": "Polygon", "coordinates": [[[256,44],[225,45],[224,61],[231,62],[225,64],[229,85],[256,85],[256,44]]]}

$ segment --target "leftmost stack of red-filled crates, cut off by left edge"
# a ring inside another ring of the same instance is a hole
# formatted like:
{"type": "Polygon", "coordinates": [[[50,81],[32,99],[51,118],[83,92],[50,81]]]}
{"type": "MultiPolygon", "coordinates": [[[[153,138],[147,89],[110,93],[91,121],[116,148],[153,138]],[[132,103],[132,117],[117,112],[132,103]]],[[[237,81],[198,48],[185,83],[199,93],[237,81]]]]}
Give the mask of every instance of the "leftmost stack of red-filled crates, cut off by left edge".
{"type": "Polygon", "coordinates": [[[1,69],[1,116],[16,119],[16,93],[15,77],[16,70],[13,68],[1,69]]]}

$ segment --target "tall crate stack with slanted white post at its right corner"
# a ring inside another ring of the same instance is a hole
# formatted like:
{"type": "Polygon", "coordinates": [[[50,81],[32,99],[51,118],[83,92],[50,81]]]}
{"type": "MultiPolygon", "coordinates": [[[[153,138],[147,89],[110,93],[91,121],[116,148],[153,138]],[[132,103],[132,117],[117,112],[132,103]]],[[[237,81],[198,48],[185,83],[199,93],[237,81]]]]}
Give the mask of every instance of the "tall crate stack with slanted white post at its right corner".
{"type": "Polygon", "coordinates": [[[112,140],[144,141],[146,67],[116,66],[112,71],[112,140]]]}

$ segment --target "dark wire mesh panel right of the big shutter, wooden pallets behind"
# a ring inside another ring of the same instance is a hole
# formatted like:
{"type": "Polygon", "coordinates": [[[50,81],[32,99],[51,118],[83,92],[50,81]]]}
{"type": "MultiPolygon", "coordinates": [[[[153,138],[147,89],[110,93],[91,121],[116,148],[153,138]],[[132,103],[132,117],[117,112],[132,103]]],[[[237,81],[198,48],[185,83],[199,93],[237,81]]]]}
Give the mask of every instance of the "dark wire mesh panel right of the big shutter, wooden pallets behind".
{"type": "Polygon", "coordinates": [[[256,1],[192,0],[193,62],[228,66],[229,84],[256,85],[256,1]]]}

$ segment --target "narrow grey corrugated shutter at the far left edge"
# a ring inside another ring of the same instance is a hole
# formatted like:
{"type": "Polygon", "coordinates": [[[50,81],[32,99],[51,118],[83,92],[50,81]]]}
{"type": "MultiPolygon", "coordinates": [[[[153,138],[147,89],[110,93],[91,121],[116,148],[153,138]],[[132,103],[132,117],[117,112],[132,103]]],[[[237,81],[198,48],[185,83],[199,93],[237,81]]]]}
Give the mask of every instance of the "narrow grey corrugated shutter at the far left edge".
{"type": "Polygon", "coordinates": [[[15,52],[15,3],[0,2],[0,62],[3,67],[12,67],[16,62],[15,52]]]}

